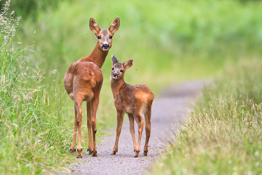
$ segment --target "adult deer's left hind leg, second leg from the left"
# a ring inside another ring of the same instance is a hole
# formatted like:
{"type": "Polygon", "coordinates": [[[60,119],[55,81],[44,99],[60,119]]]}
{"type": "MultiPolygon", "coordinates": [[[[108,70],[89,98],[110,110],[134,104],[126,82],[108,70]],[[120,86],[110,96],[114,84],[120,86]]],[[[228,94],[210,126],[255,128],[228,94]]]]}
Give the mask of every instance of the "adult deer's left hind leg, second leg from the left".
{"type": "Polygon", "coordinates": [[[77,158],[83,157],[81,146],[81,124],[82,124],[82,100],[75,100],[75,109],[77,111],[77,125],[78,125],[78,145],[77,145],[77,158]]]}

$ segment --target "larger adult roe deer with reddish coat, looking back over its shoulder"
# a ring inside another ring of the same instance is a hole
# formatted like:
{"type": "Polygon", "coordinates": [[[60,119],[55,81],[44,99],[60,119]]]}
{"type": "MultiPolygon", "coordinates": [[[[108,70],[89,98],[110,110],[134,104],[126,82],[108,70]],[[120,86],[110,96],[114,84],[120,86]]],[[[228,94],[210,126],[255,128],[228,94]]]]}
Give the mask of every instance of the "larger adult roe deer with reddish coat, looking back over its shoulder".
{"type": "Polygon", "coordinates": [[[99,95],[103,83],[103,74],[100,70],[105,62],[108,50],[112,45],[112,37],[118,30],[120,20],[117,17],[111,23],[108,30],[101,30],[93,18],[90,18],[89,27],[97,37],[94,51],[85,58],[73,62],[64,76],[64,87],[69,97],[74,100],[75,120],[74,134],[70,151],[75,152],[75,139],[78,134],[77,157],[82,157],[81,146],[81,123],[83,101],[86,101],[87,127],[88,127],[88,150],[92,156],[97,156],[96,149],[96,111],[99,104],[99,95]],[[93,143],[91,135],[93,131],[93,143]]]}

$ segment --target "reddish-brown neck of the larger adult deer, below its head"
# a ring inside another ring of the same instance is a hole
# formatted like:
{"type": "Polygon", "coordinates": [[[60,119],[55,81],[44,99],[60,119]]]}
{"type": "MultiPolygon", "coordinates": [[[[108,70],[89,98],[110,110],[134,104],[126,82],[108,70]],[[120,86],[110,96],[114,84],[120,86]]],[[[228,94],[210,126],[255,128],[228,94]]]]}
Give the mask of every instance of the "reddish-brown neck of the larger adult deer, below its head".
{"type": "Polygon", "coordinates": [[[96,44],[95,49],[90,54],[92,62],[94,62],[100,69],[103,66],[106,56],[108,54],[107,51],[103,51],[99,48],[98,44],[96,44]]]}

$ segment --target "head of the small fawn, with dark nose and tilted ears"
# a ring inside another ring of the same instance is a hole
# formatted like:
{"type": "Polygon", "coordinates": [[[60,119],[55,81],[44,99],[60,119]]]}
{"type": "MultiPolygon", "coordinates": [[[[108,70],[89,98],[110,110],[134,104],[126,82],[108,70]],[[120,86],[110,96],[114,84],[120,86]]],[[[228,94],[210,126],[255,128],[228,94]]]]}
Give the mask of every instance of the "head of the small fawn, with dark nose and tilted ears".
{"type": "Polygon", "coordinates": [[[133,60],[127,60],[124,63],[118,62],[117,58],[112,55],[112,69],[111,69],[111,77],[113,79],[119,79],[121,77],[124,77],[125,71],[130,68],[133,65],[133,60]]]}

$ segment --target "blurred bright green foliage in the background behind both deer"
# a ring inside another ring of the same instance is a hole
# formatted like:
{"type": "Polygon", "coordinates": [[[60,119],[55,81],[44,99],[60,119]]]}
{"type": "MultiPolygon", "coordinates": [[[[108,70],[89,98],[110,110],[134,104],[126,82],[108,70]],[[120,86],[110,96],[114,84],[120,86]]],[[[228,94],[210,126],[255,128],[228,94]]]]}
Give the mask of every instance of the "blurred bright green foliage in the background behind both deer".
{"type": "Polygon", "coordinates": [[[128,83],[147,84],[157,92],[174,82],[211,77],[225,60],[262,56],[261,8],[261,1],[237,0],[65,1],[56,10],[40,13],[36,22],[27,20],[20,32],[28,43],[37,30],[41,65],[57,69],[62,83],[69,65],[95,47],[90,17],[107,29],[119,16],[120,28],[102,67],[104,82],[109,81],[114,54],[121,62],[134,59],[125,74],[128,83]]]}

